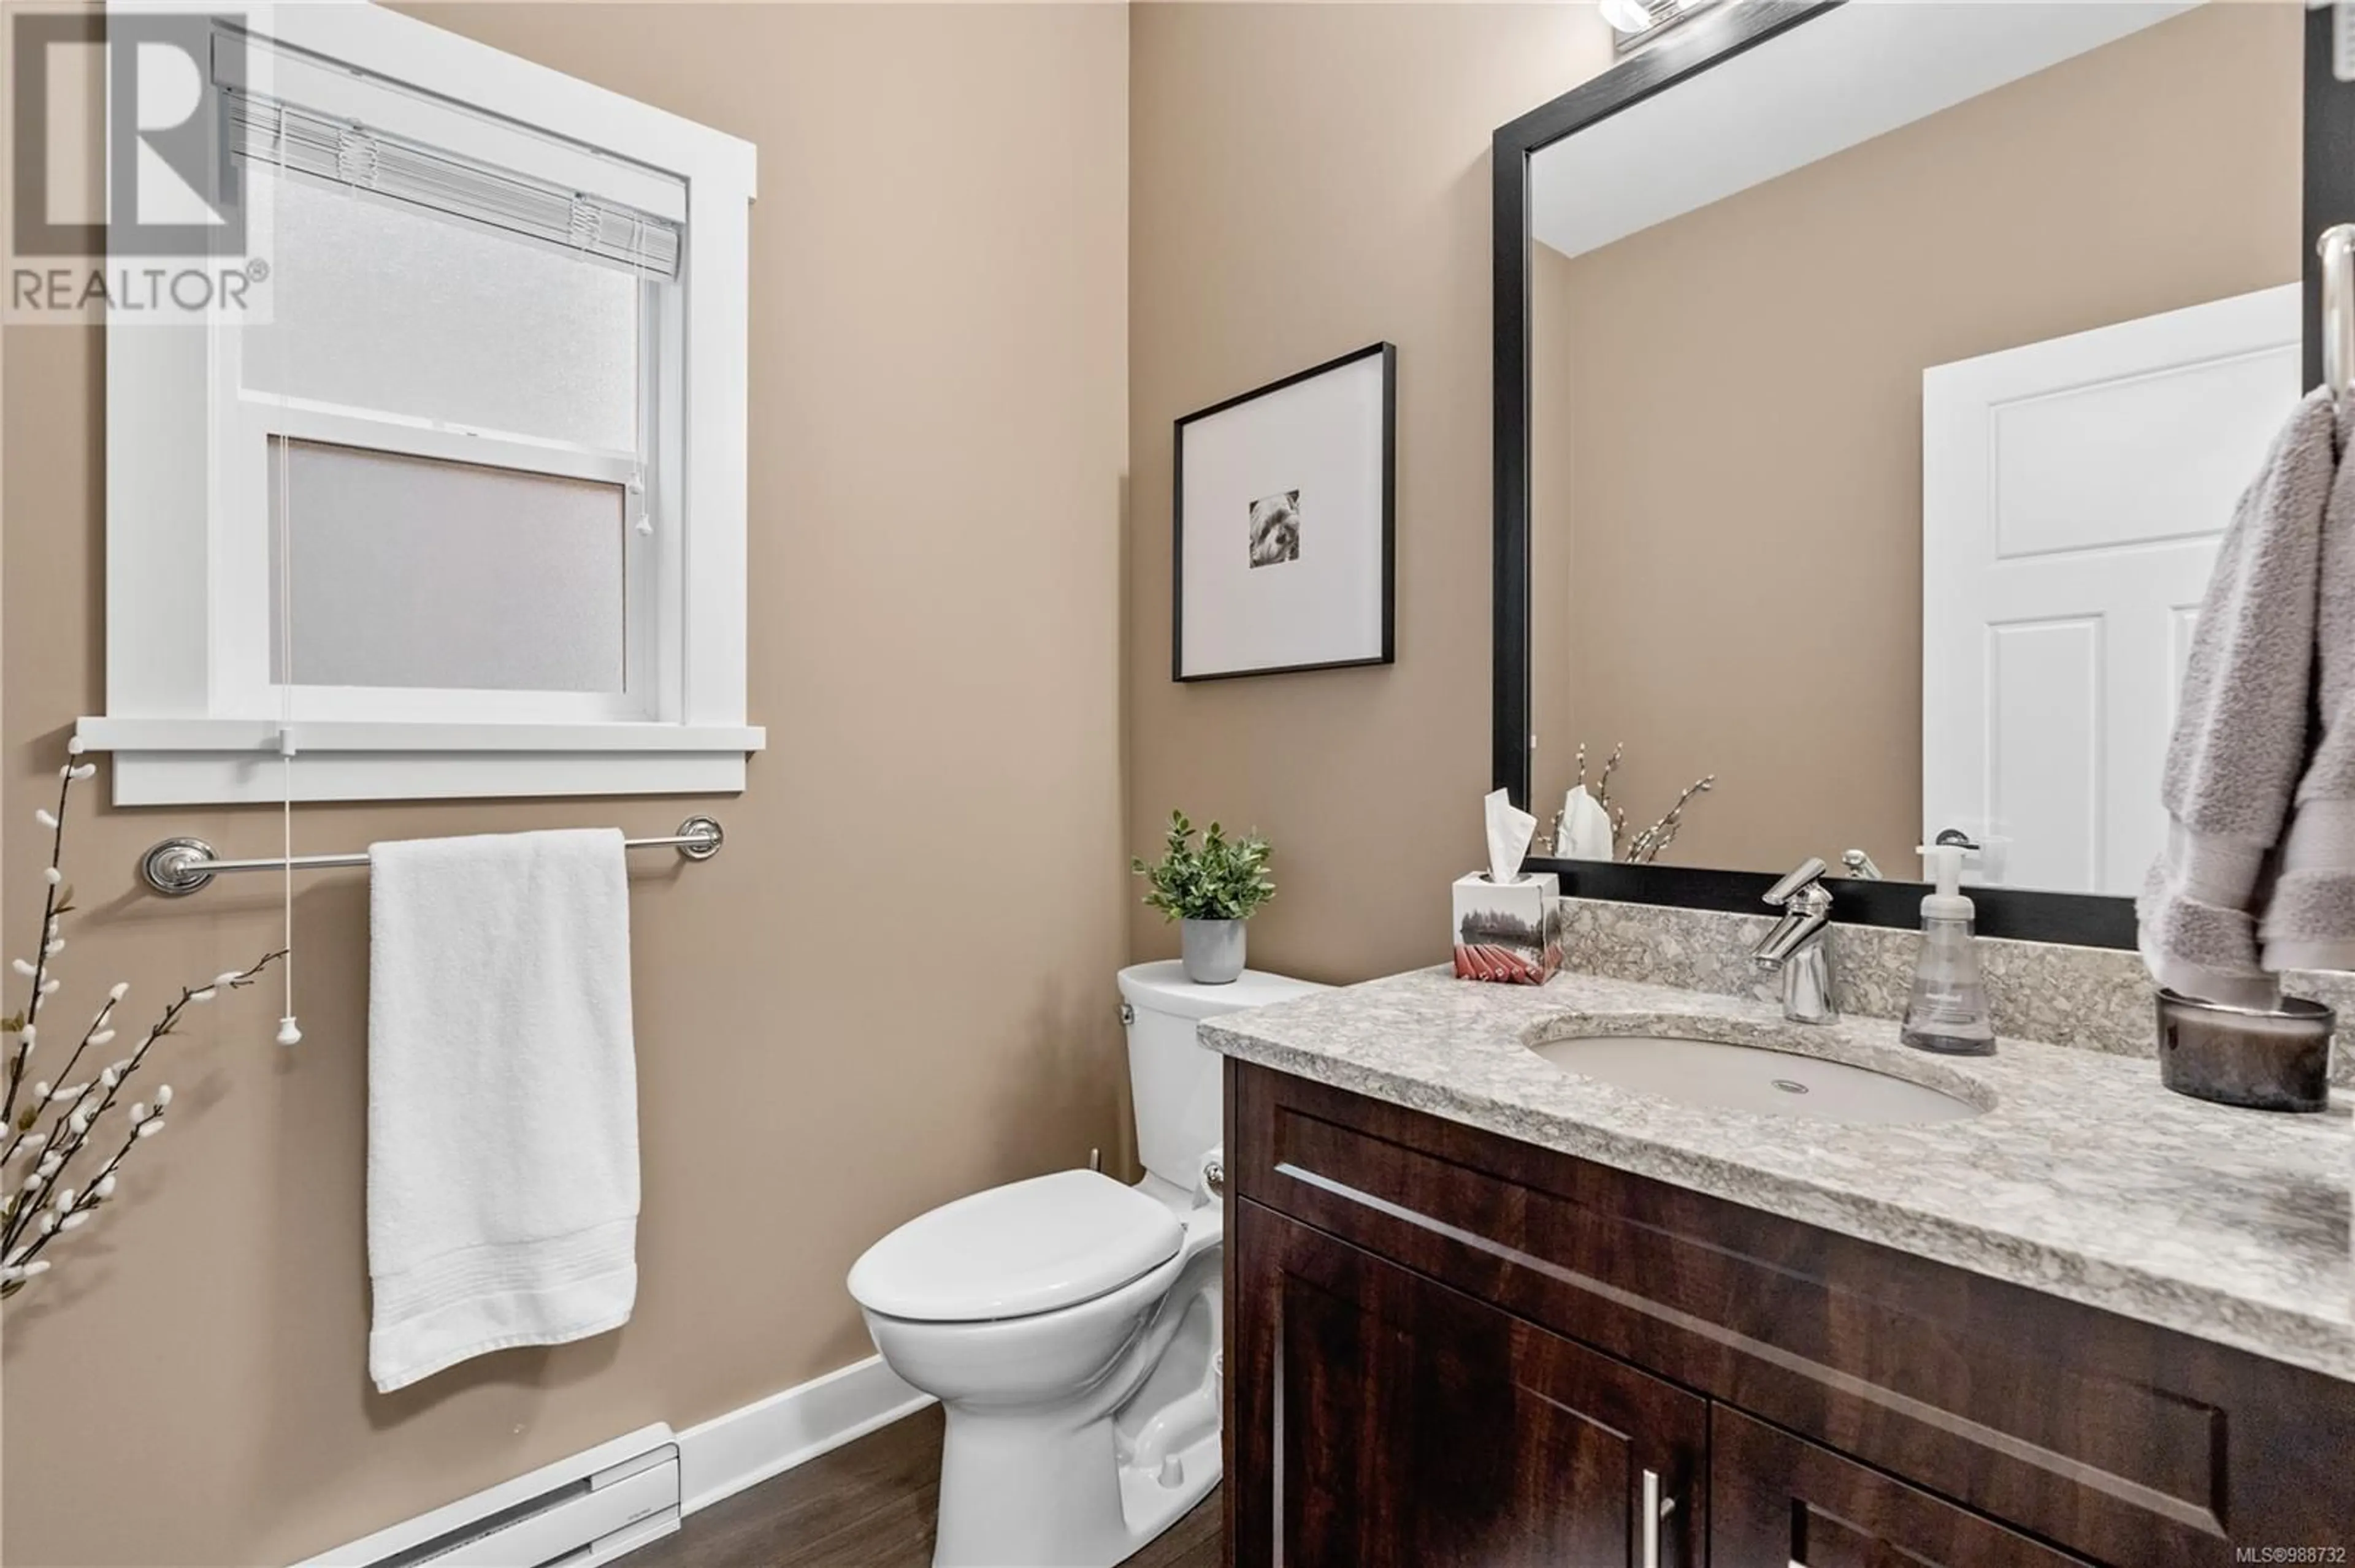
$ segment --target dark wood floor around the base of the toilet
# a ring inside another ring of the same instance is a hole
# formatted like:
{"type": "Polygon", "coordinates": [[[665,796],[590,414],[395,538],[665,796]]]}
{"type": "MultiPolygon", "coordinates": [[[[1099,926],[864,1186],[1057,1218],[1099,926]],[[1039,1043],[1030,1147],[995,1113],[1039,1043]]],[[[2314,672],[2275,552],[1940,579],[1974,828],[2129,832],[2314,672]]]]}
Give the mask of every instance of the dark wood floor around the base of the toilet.
{"type": "MultiPolygon", "coordinates": [[[[688,1519],[629,1568],[928,1568],[940,1495],[940,1406],[843,1443],[688,1519]]],[[[1213,1490],[1128,1568],[1220,1568],[1213,1490]]],[[[1008,1563],[1006,1568],[1024,1568],[1008,1563]]]]}

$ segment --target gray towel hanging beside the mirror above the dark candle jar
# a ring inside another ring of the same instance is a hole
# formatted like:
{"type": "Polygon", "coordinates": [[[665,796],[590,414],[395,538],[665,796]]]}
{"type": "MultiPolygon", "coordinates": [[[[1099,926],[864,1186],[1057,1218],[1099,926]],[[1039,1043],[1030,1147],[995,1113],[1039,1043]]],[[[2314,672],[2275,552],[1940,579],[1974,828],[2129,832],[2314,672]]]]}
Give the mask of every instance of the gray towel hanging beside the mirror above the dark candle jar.
{"type": "MultiPolygon", "coordinates": [[[[2298,403],[2233,509],[2200,605],[2160,786],[2169,812],[2167,850],[2136,904],[2143,963],[2160,984],[2185,996],[2242,1008],[2277,1001],[2258,954],[2258,911],[2273,890],[2275,850],[2291,803],[2303,796],[2301,777],[2322,768],[2322,756],[2308,768],[2308,732],[2317,685],[2324,511],[2336,509],[2355,527],[2355,497],[2346,494],[2355,464],[2339,476],[2336,426],[2327,391],[2298,403]]],[[[2346,530],[2336,537],[2341,549],[2334,556],[2355,567],[2346,530]]],[[[2355,582],[2336,614],[2341,629],[2355,626],[2355,582]]],[[[2343,666],[2355,650],[2341,647],[2341,655],[2343,666]]],[[[2339,669],[2339,685],[2355,687],[2355,669],[2339,669]]],[[[2339,798],[2355,800],[2355,690],[2341,697],[2348,711],[2348,725],[2336,737],[2343,763],[2327,777],[2343,784],[2339,798]]],[[[2327,836],[2320,815],[2315,822],[2310,833],[2327,836]]],[[[2348,843],[2355,845],[2355,836],[2348,843]]],[[[2355,857],[2346,864],[2355,866],[2355,857]]],[[[2355,913],[2350,890],[2355,876],[2317,885],[2310,909],[2322,913],[2339,895],[2341,909],[2355,913]]],[[[2277,918],[2298,930],[2310,925],[2303,916],[2291,918],[2289,904],[2277,918]]],[[[2346,916],[2324,928],[2355,937],[2355,921],[2346,916]]],[[[2275,928],[2268,925],[2266,935],[2273,937],[2275,928]]]]}

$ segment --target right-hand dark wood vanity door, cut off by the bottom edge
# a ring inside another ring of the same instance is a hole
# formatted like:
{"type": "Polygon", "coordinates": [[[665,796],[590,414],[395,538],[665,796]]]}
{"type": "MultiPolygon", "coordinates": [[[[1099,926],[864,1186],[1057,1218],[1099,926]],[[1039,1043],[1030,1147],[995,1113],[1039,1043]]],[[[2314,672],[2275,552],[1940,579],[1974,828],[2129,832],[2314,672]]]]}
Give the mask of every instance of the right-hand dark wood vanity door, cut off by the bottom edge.
{"type": "Polygon", "coordinates": [[[1717,1406],[1710,1413],[1710,1568],[2087,1563],[1717,1406]]]}

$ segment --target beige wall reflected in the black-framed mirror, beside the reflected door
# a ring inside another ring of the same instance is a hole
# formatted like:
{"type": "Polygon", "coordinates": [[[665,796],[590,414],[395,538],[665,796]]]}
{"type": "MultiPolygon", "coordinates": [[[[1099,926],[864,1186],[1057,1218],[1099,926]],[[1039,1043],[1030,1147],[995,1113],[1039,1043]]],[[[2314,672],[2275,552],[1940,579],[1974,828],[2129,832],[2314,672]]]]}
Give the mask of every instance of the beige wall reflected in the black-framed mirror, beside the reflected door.
{"type": "Polygon", "coordinates": [[[1547,815],[1580,737],[1625,739],[1632,826],[1719,777],[1670,859],[1863,845],[1915,873],[1922,370],[2294,280],[2301,26],[2202,7],[1599,252],[1538,247],[1547,815]]]}

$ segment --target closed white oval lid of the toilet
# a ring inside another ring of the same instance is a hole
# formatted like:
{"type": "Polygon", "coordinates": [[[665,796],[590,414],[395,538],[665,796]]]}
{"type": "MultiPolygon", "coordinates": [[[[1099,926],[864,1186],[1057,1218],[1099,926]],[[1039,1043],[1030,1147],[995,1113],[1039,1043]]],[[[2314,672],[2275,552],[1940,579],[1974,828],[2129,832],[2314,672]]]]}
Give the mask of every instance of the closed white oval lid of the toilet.
{"type": "Polygon", "coordinates": [[[1093,1170],[1057,1170],[916,1215],[850,1267],[860,1307],[982,1323],[1072,1307],[1178,1255],[1163,1203],[1093,1170]]]}

